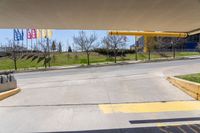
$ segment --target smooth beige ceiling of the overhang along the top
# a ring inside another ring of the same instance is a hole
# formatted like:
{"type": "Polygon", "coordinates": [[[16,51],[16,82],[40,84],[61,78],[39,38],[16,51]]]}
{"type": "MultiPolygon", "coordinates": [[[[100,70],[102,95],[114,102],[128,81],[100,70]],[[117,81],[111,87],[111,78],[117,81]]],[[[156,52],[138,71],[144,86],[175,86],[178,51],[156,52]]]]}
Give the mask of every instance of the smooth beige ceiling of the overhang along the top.
{"type": "Polygon", "coordinates": [[[0,28],[189,32],[200,0],[0,0],[0,28]]]}

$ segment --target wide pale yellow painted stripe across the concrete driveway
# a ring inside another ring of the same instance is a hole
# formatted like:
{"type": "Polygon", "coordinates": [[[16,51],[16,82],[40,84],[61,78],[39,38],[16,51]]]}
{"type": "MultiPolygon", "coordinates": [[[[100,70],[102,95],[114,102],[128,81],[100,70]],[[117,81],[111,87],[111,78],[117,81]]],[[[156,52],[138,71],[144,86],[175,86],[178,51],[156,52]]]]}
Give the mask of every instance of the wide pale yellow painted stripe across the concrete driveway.
{"type": "Polygon", "coordinates": [[[200,101],[155,102],[133,104],[101,104],[100,110],[110,113],[159,113],[177,111],[200,111],[200,101]]]}

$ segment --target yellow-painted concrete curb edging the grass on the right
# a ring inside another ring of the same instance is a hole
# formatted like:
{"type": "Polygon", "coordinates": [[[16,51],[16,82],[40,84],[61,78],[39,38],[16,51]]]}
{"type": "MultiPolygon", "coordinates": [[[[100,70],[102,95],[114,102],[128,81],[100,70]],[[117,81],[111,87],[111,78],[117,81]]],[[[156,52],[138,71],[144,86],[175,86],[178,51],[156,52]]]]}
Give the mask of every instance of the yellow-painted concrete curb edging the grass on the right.
{"type": "Polygon", "coordinates": [[[196,100],[200,101],[200,84],[187,81],[184,79],[176,78],[176,77],[168,77],[167,80],[173,84],[174,86],[178,87],[191,97],[196,100]]]}

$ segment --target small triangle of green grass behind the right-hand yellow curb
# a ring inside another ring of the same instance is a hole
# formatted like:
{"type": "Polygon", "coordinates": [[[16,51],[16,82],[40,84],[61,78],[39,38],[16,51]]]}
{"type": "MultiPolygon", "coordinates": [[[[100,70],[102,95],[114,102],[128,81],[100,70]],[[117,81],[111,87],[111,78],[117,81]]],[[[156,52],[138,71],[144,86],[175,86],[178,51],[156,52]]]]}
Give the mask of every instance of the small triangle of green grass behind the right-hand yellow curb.
{"type": "Polygon", "coordinates": [[[190,74],[190,75],[182,75],[182,76],[176,76],[176,77],[180,78],[180,79],[185,79],[188,81],[200,83],[200,73],[190,74]]]}

